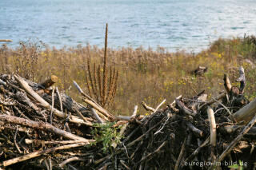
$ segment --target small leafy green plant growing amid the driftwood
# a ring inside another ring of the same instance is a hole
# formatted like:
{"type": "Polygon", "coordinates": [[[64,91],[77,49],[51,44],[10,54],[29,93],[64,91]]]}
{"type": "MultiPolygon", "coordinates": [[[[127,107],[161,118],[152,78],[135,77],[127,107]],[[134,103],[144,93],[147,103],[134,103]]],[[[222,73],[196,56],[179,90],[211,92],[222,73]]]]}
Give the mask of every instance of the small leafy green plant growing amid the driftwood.
{"type": "Polygon", "coordinates": [[[120,144],[122,136],[119,133],[120,126],[115,127],[115,122],[107,122],[105,124],[95,124],[96,128],[92,131],[95,144],[102,142],[102,151],[111,151],[113,144],[120,144]]]}

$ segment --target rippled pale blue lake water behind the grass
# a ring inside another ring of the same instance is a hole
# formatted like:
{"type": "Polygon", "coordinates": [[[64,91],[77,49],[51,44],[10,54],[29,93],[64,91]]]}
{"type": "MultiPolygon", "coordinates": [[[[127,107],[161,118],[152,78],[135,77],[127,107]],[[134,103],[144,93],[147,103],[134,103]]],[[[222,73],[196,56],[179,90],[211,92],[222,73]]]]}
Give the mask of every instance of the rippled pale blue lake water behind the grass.
{"type": "MultiPolygon", "coordinates": [[[[0,39],[200,50],[256,33],[255,0],[0,0],[0,39]]],[[[0,42],[1,43],[1,42],[0,42]]],[[[0,44],[1,45],[1,44],[0,44]]]]}

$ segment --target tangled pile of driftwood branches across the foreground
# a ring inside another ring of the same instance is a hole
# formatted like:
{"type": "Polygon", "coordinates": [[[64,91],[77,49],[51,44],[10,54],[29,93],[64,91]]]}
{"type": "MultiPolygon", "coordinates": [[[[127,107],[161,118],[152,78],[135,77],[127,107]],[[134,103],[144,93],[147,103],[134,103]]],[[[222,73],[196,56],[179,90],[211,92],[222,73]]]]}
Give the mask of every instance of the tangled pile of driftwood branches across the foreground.
{"type": "MultiPolygon", "coordinates": [[[[160,109],[142,102],[131,117],[114,116],[78,88],[86,106],[58,88],[57,77],[37,84],[18,75],[0,75],[0,167],[2,169],[229,169],[242,162],[256,167],[256,100],[224,75],[226,91],[207,101],[205,91],[176,97],[160,109]],[[112,122],[109,148],[95,129],[112,122]],[[120,127],[120,128],[117,128],[120,127]],[[122,136],[121,140],[115,140],[122,136]],[[106,146],[105,146],[106,147],[106,146]]],[[[242,166],[241,165],[241,166],[242,166]]],[[[240,165],[239,165],[240,166],[240,165]]]]}

